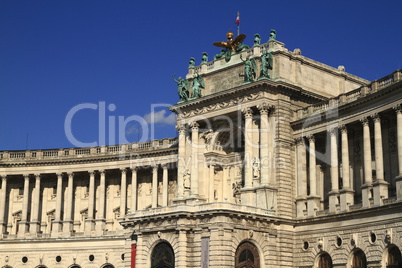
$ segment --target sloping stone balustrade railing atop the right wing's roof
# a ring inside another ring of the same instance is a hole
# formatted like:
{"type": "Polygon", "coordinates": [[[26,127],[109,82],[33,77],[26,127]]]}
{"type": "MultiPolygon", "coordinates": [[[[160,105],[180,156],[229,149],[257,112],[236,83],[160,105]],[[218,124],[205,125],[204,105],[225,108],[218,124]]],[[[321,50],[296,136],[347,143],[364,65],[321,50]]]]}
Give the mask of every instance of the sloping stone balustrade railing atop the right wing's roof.
{"type": "Polygon", "coordinates": [[[341,94],[335,98],[331,98],[327,101],[316,103],[305,108],[296,111],[296,119],[303,119],[313,114],[321,113],[329,109],[336,108],[341,105],[353,102],[359,98],[365,97],[369,94],[373,94],[383,88],[397,83],[402,80],[402,70],[396,70],[390,75],[387,75],[379,80],[371,82],[368,86],[363,86],[348,93],[341,94]]]}

